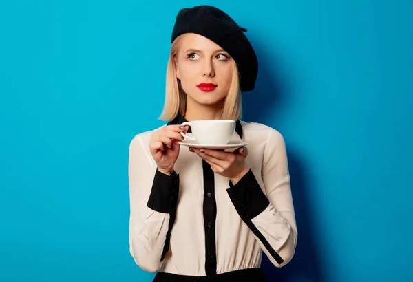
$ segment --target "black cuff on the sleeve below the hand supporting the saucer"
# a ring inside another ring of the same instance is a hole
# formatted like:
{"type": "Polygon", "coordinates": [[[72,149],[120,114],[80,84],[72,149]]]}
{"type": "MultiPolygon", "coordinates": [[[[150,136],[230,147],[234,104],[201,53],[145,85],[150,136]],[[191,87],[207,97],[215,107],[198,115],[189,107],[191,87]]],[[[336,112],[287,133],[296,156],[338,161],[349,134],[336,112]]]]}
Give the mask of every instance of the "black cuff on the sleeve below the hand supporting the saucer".
{"type": "Polygon", "coordinates": [[[237,184],[230,180],[229,186],[226,191],[243,221],[251,221],[270,204],[251,169],[237,184]]]}

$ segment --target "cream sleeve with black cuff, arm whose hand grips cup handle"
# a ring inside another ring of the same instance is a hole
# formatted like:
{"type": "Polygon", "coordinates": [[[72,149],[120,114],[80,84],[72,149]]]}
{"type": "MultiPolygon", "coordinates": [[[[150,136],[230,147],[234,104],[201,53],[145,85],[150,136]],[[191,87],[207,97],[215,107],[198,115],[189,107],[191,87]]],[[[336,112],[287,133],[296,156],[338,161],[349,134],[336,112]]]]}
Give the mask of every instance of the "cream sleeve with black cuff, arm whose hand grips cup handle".
{"type": "Polygon", "coordinates": [[[136,135],[129,145],[129,250],[140,268],[156,272],[169,250],[179,176],[156,169],[143,139],[136,135]]]}

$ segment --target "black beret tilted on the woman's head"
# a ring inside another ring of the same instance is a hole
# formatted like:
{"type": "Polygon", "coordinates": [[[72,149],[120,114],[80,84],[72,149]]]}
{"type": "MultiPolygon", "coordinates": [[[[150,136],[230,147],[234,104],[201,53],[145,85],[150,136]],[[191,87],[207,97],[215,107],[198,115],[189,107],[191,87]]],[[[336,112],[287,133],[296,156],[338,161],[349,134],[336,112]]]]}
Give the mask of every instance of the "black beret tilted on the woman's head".
{"type": "Polygon", "coordinates": [[[255,87],[258,61],[253,46],[244,32],[246,29],[237,25],[222,10],[203,5],[184,8],[178,12],[171,41],[173,42],[181,34],[195,33],[220,45],[237,63],[241,91],[246,92],[255,87]]]}

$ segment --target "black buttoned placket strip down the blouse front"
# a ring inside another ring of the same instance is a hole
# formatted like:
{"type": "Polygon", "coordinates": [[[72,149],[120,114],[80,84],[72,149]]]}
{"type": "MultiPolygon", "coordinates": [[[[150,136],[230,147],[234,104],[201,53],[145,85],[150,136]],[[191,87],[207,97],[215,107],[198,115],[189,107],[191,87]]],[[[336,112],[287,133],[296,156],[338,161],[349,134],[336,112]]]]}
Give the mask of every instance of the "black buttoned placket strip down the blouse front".
{"type": "Polygon", "coordinates": [[[217,273],[217,254],[215,246],[215,219],[217,203],[215,201],[215,177],[211,166],[202,160],[204,175],[204,228],[205,228],[205,272],[207,276],[217,273]]]}

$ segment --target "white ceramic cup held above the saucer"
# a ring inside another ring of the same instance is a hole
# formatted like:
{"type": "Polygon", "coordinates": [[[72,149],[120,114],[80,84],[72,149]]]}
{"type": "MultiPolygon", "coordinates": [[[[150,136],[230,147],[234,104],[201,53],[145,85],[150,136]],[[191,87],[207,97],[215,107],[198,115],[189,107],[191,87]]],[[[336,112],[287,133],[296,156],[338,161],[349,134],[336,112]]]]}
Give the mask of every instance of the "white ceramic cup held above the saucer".
{"type": "Polygon", "coordinates": [[[181,125],[191,127],[193,138],[181,132],[182,136],[198,144],[228,144],[235,132],[235,120],[192,120],[181,125]]]}

